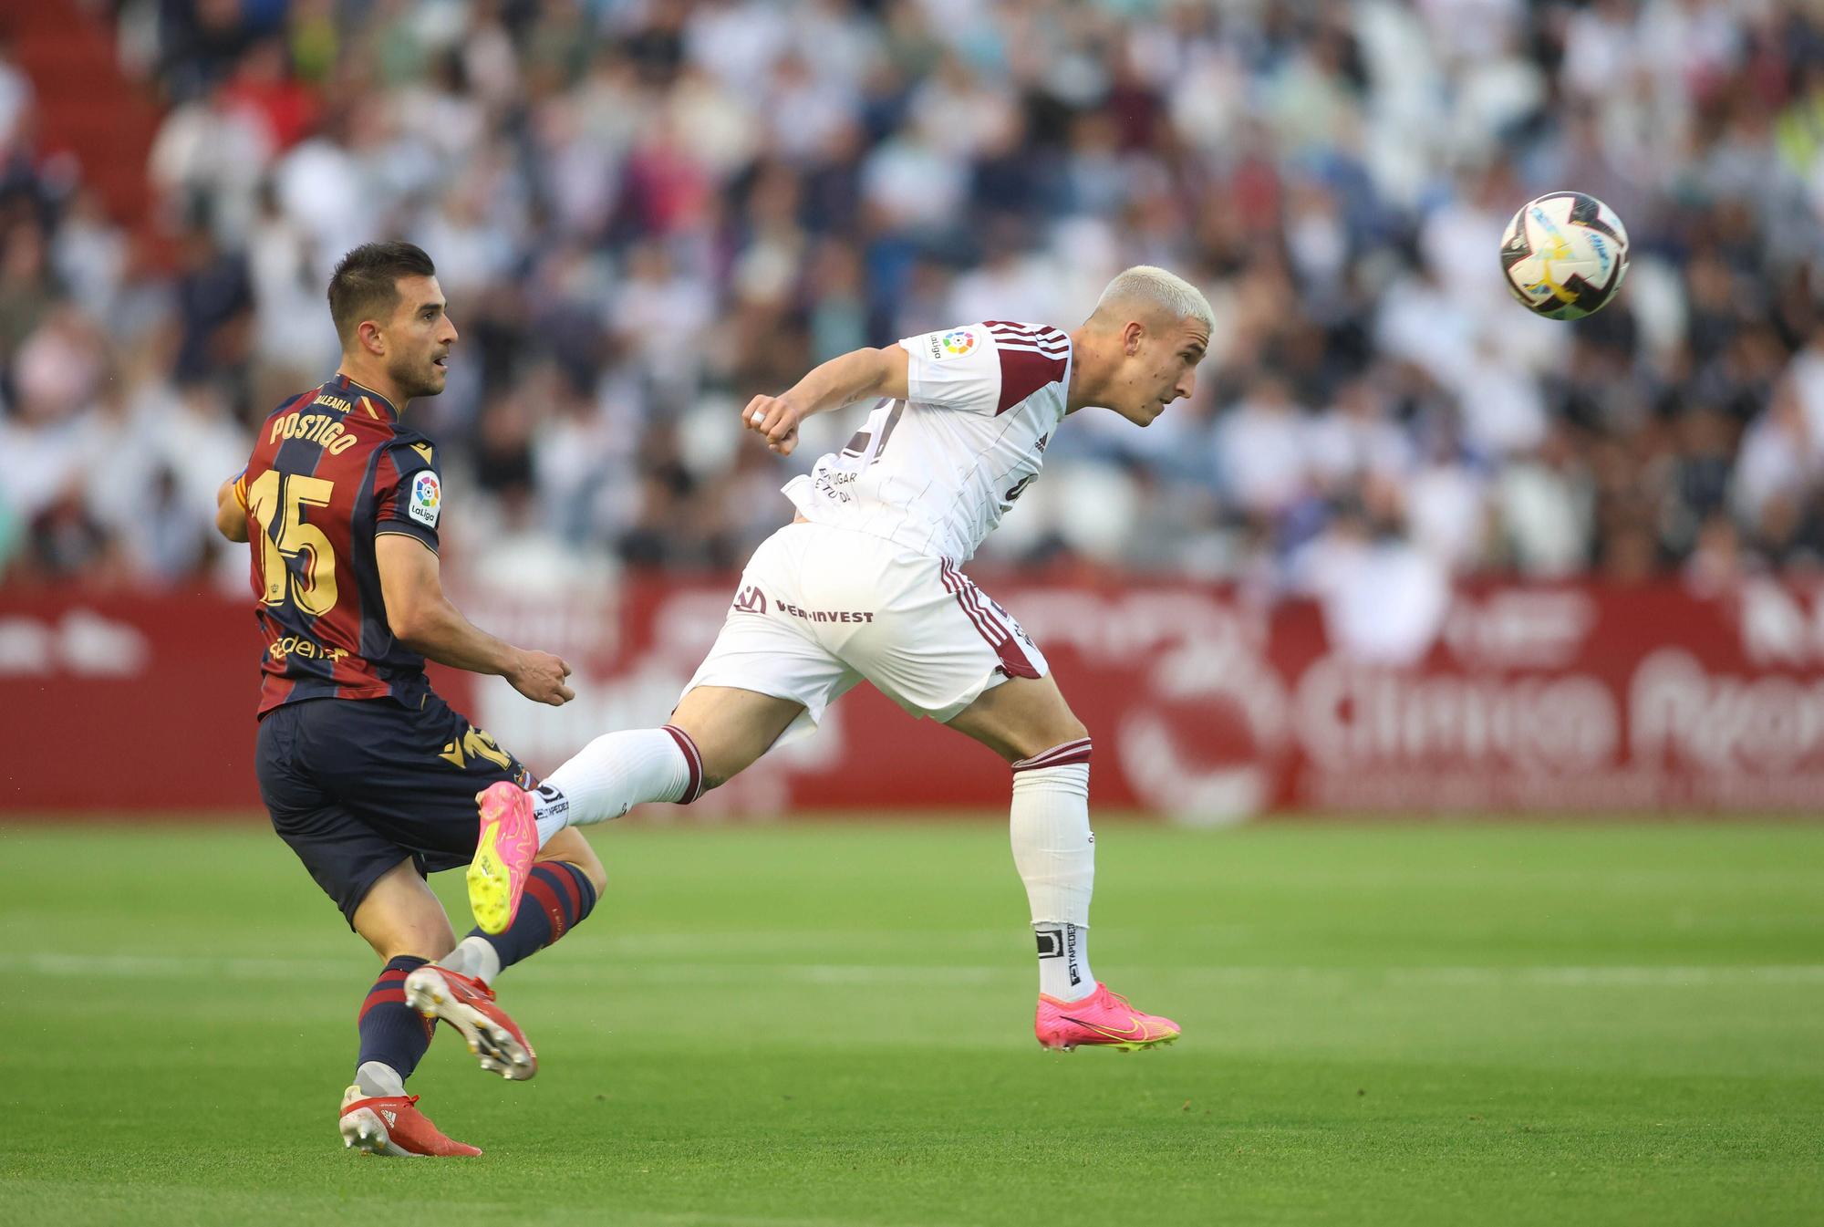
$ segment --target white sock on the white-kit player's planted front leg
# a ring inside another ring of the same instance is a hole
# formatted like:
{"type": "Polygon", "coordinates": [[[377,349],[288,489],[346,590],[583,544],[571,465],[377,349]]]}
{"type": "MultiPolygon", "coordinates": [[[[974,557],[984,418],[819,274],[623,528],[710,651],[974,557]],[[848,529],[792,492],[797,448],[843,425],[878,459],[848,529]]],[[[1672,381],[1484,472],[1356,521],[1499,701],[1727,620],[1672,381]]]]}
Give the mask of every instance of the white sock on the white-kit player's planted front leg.
{"type": "Polygon", "coordinates": [[[1087,738],[1014,763],[1009,831],[1040,935],[1040,991],[1060,1001],[1087,997],[1096,990],[1083,933],[1096,887],[1087,738]]]}

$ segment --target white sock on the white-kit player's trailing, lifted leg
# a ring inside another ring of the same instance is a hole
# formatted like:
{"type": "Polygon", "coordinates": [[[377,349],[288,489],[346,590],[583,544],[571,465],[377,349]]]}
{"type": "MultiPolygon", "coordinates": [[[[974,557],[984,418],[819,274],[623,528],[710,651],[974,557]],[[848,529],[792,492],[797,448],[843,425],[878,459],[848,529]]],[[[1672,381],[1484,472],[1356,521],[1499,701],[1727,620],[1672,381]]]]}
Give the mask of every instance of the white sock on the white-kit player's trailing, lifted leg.
{"type": "Polygon", "coordinates": [[[702,756],[682,729],[607,732],[582,747],[533,794],[538,845],[564,827],[620,818],[642,802],[688,805],[702,794],[702,756]]]}

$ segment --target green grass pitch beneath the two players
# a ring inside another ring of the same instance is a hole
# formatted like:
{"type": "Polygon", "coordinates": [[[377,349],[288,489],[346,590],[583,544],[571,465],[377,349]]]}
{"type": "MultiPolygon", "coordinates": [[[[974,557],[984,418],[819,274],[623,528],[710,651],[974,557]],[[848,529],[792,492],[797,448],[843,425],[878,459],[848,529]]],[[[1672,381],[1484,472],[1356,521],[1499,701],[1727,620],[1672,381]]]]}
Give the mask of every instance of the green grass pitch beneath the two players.
{"type": "MultiPolygon", "coordinates": [[[[264,829],[0,829],[4,1223],[1817,1223],[1824,827],[1098,823],[1100,975],[1032,1041],[1000,822],[598,829],[509,971],[474,1161],[341,1148],[374,973],[264,829]]],[[[460,907],[460,875],[443,875],[460,907]]]]}

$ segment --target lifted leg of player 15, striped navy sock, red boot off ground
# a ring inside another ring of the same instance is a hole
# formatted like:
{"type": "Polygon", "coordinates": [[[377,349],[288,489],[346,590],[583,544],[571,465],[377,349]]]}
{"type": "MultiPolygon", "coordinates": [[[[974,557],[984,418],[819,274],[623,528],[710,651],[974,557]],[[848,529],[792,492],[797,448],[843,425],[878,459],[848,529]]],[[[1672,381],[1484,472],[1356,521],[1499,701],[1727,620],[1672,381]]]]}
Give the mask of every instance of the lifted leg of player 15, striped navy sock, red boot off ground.
{"type": "Polygon", "coordinates": [[[520,907],[502,933],[471,929],[449,955],[412,971],[405,979],[407,1002],[461,1032],[483,1070],[509,1081],[533,1077],[538,1055],[496,1004],[494,977],[582,924],[606,887],[607,871],[589,842],[560,831],[527,873],[527,893],[536,906],[520,907]]]}

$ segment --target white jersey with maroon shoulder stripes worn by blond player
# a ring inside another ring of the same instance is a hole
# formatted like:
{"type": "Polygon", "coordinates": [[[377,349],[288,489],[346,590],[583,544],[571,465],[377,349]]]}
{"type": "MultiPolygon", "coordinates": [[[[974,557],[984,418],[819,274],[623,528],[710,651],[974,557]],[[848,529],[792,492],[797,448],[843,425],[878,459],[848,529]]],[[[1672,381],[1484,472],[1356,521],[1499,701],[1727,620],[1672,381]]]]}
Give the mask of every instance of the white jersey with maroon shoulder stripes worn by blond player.
{"type": "Polygon", "coordinates": [[[1045,464],[1071,338],[990,320],[908,336],[907,400],[883,400],[841,451],[784,486],[806,520],[967,562],[1045,464]]]}

